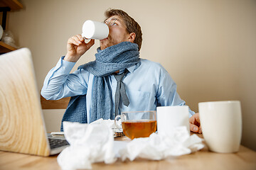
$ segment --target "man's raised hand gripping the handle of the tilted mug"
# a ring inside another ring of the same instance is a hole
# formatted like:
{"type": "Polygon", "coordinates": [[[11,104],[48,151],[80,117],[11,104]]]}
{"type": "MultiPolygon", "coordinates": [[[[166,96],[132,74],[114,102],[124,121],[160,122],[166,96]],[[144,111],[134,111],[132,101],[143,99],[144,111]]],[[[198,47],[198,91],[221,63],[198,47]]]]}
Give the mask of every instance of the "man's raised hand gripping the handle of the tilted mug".
{"type": "Polygon", "coordinates": [[[64,57],[65,61],[77,62],[80,57],[85,54],[87,50],[94,45],[95,40],[90,40],[90,42],[85,43],[85,39],[82,35],[75,35],[68,39],[67,43],[67,54],[64,57]]]}

